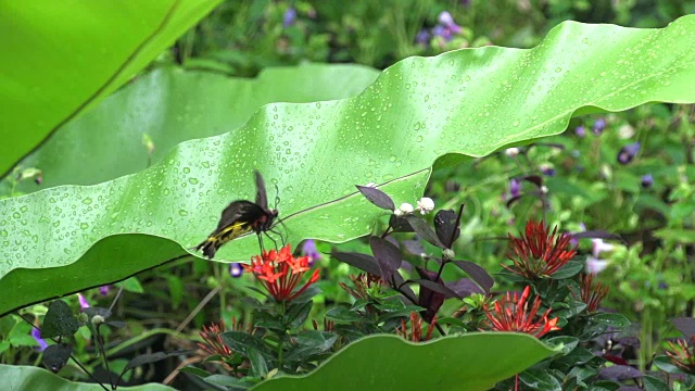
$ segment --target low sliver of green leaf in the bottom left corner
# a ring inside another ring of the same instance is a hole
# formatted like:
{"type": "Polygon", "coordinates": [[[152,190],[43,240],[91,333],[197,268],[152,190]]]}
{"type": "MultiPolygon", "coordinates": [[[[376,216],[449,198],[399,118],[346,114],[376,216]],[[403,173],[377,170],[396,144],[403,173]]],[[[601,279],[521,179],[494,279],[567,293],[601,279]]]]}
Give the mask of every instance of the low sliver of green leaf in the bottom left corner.
{"type": "MultiPolygon", "coordinates": [[[[51,390],[51,391],[97,391],[103,388],[97,383],[74,382],[50,371],[31,366],[0,364],[0,379],[5,390],[51,390]]],[[[118,390],[170,391],[164,384],[148,383],[138,387],[118,387],[118,390]]]]}

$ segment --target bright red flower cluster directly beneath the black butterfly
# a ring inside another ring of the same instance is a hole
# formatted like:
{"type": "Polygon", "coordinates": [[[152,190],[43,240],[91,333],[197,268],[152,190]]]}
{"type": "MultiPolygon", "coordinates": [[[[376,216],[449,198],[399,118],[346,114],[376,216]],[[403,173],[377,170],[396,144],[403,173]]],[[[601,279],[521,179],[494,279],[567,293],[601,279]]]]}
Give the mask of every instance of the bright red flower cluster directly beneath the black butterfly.
{"type": "Polygon", "coordinates": [[[289,301],[304,292],[312,283],[318,281],[319,273],[314,270],[309,280],[302,288],[294,291],[304,273],[309,269],[308,262],[308,256],[292,256],[292,250],[288,244],[279,252],[270,250],[264,251],[262,256],[253,256],[251,265],[243,265],[243,267],[258,278],[275,300],[289,301]]]}

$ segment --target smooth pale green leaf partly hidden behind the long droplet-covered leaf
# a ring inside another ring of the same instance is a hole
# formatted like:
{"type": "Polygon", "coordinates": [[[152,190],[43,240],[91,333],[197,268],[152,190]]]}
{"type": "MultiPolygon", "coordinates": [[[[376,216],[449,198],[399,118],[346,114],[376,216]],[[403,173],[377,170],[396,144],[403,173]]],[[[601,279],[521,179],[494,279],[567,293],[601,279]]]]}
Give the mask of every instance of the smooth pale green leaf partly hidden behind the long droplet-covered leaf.
{"type": "Polygon", "coordinates": [[[132,174],[148,164],[143,135],[154,142],[152,162],[159,162],[179,142],[243,125],[264,104],[350,98],[377,76],[361,65],[268,68],[256,79],[160,68],[66,124],[24,159],[20,166],[40,168],[43,182],[24,181],[17,190],[94,185],[132,174]]]}

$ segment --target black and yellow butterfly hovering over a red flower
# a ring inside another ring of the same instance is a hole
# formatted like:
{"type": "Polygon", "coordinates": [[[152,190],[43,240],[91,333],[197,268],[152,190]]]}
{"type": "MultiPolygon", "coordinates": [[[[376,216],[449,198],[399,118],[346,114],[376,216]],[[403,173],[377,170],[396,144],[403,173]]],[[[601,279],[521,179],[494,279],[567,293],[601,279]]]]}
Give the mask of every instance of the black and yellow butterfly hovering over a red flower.
{"type": "Polygon", "coordinates": [[[268,209],[263,177],[257,171],[254,174],[256,176],[256,202],[239,200],[225,207],[217,228],[210,234],[207,239],[195,247],[195,251],[202,249],[203,255],[212,258],[223,244],[252,230],[258,236],[258,243],[263,249],[261,234],[273,228],[273,222],[277,218],[278,211],[268,209]]]}

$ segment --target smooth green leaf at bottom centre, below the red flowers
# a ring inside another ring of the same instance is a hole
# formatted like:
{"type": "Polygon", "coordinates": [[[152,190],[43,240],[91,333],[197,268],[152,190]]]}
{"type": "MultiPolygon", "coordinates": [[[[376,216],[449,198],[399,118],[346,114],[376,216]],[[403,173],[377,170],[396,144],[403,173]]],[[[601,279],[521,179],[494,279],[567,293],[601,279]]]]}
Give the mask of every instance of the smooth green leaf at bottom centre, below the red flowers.
{"type": "Polygon", "coordinates": [[[418,344],[374,336],[309,375],[270,379],[253,390],[489,390],[553,353],[520,333],[470,333],[418,344]]]}

